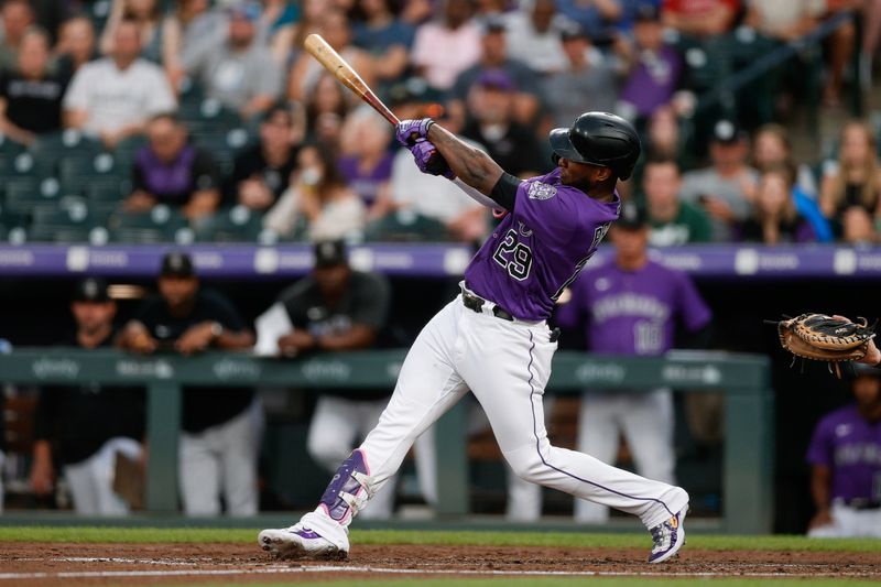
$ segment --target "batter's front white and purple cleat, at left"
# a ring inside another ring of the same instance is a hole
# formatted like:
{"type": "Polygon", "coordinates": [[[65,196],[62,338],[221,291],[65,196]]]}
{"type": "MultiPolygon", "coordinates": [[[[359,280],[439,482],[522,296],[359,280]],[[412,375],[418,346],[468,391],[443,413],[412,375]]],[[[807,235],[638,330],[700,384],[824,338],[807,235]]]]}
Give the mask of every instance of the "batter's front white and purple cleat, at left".
{"type": "Polygon", "coordinates": [[[276,558],[344,559],[349,555],[347,529],[318,512],[307,513],[291,528],[263,530],[257,542],[276,558]]]}

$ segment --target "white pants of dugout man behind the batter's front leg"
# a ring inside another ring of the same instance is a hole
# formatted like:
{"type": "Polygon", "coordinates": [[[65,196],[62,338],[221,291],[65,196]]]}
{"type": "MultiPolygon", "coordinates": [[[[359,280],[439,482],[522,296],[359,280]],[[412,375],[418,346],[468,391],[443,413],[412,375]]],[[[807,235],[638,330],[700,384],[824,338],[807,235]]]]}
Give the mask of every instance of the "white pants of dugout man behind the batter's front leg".
{"type": "MultiPolygon", "coordinates": [[[[352,400],[322,395],[315,406],[309,423],[306,443],[309,456],[329,471],[351,453],[352,447],[362,441],[368,432],[379,423],[382,410],[389,404],[388,398],[379,400],[352,400]]],[[[434,455],[434,434],[427,431],[416,439],[414,458],[416,475],[425,501],[437,501],[437,474],[434,455]],[[426,491],[427,488],[427,491],[426,491]]],[[[359,515],[365,520],[385,520],[394,512],[396,478],[377,491],[359,515]]]]}

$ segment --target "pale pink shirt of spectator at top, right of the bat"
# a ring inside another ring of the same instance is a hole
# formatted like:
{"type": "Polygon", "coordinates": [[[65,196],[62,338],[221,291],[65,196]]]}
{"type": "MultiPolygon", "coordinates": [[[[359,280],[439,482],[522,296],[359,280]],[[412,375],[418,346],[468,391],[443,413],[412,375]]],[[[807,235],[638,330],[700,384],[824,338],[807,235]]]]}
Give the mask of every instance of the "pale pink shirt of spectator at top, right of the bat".
{"type": "Polygon", "coordinates": [[[452,88],[456,77],[479,58],[480,30],[470,22],[455,30],[429,22],[416,31],[411,61],[424,68],[425,79],[434,88],[452,88]]]}

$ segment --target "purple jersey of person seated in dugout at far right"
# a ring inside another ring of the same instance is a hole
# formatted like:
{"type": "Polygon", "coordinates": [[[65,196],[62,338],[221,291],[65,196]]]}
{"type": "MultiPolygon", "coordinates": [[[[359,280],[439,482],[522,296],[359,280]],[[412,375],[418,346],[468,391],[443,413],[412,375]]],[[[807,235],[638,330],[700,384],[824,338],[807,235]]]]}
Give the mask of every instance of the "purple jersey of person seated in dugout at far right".
{"type": "Polygon", "coordinates": [[[807,449],[811,465],[833,474],[833,498],[881,500],[881,422],[867,422],[856,405],[819,421],[807,449]]]}

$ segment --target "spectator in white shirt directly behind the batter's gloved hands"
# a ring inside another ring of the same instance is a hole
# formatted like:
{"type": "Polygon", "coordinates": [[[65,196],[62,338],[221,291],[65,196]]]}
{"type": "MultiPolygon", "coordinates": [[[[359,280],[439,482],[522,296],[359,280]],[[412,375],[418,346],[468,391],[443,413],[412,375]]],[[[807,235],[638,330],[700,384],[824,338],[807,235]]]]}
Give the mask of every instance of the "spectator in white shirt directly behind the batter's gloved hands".
{"type": "MultiPolygon", "coordinates": [[[[431,113],[432,104],[439,99],[431,93],[422,78],[412,78],[392,88],[391,107],[401,120],[423,118],[431,113]]],[[[417,225],[425,230],[425,224],[437,222],[445,236],[461,242],[476,242],[487,233],[487,209],[471,199],[456,184],[445,177],[426,176],[413,164],[406,150],[399,149],[392,161],[391,192],[398,214],[387,227],[388,233],[405,231],[409,225],[417,225]],[[413,186],[417,185],[418,189],[413,186]],[[401,218],[399,220],[399,217],[401,218]]],[[[380,232],[382,227],[374,225],[380,232]]]]}

